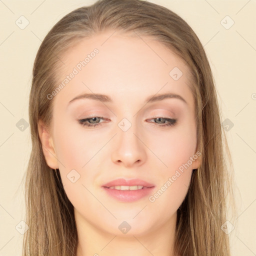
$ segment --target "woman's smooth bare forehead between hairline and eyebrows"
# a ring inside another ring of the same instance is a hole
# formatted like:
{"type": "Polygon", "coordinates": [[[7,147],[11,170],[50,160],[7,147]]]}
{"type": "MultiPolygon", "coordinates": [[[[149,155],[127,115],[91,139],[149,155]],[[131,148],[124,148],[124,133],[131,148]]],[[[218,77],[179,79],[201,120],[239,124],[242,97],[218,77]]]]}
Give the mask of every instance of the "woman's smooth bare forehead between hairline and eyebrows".
{"type": "Polygon", "coordinates": [[[61,102],[81,92],[111,94],[116,101],[173,92],[192,104],[188,66],[152,37],[104,31],[81,39],[61,59],[65,65],[58,72],[59,83],[76,73],[56,96],[61,102]]]}

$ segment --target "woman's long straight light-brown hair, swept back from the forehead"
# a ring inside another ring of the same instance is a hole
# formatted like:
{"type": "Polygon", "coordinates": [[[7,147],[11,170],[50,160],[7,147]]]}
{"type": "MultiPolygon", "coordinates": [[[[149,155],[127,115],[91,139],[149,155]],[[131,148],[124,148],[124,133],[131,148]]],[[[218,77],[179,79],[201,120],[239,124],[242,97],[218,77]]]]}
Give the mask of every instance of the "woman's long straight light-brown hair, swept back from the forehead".
{"type": "Polygon", "coordinates": [[[75,256],[74,211],[60,179],[45,161],[38,120],[52,117],[47,99],[59,81],[61,55],[82,38],[106,29],[135,31],[155,38],[178,54],[192,73],[197,150],[201,164],[193,171],[187,195],[177,210],[174,252],[186,256],[230,256],[226,221],[227,198],[233,206],[232,162],[211,69],[203,46],[191,27],[176,13],[141,0],[99,0],[61,18],[42,41],[33,66],[29,97],[32,150],[26,172],[26,223],[23,255],[75,256]],[[229,197],[228,197],[229,195],[229,197]]]}

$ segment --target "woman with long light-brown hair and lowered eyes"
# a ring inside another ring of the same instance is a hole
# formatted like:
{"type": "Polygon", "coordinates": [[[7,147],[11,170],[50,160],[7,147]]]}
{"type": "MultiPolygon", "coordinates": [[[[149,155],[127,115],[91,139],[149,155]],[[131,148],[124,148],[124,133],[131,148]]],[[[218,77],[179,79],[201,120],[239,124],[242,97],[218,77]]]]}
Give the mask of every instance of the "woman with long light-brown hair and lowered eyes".
{"type": "Polygon", "coordinates": [[[230,255],[214,82],[177,14],[99,0],[65,15],[37,52],[29,121],[24,255],[230,255]]]}

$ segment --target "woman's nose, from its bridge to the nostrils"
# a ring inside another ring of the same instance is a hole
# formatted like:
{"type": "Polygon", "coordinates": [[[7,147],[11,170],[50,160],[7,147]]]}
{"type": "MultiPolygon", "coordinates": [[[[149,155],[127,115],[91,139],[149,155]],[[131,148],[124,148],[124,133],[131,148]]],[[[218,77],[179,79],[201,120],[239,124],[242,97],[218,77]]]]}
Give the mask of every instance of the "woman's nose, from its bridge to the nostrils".
{"type": "Polygon", "coordinates": [[[141,165],[145,162],[147,157],[143,137],[140,136],[135,125],[131,125],[126,131],[121,129],[117,130],[111,148],[113,148],[111,152],[112,162],[124,167],[141,165]]]}

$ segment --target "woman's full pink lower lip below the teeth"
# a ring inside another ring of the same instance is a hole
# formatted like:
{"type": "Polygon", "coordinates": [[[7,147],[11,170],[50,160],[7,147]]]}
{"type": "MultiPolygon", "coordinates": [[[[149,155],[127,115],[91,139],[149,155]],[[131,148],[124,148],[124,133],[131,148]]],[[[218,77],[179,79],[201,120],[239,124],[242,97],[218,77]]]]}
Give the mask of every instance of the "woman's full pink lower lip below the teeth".
{"type": "Polygon", "coordinates": [[[145,187],[137,190],[118,190],[118,189],[111,189],[108,187],[103,187],[103,188],[108,195],[112,196],[113,198],[119,201],[133,202],[149,195],[152,192],[152,189],[154,187],[145,187]]]}

